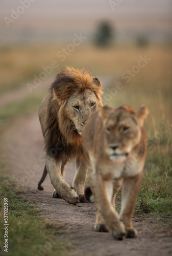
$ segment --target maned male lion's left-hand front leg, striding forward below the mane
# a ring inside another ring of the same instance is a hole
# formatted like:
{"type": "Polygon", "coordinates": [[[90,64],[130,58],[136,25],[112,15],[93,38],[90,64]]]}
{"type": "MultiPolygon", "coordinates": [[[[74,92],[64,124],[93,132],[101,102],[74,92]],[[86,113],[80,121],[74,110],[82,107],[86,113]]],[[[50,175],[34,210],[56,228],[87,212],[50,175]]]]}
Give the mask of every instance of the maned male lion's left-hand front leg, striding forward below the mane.
{"type": "Polygon", "coordinates": [[[64,181],[60,174],[61,161],[56,163],[53,157],[45,156],[45,164],[50,175],[50,180],[52,185],[56,189],[57,193],[69,204],[77,204],[79,202],[79,197],[76,191],[64,181]]]}

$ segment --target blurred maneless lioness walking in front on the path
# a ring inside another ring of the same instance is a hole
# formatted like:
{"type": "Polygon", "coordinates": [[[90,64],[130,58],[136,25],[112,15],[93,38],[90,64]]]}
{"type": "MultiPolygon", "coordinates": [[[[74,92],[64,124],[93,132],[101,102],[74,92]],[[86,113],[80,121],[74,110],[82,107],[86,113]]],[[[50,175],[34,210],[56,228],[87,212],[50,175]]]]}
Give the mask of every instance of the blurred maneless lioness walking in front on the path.
{"type": "Polygon", "coordinates": [[[134,238],[132,216],[143,178],[146,134],[143,121],[148,109],[128,105],[112,109],[105,105],[88,118],[83,128],[83,148],[90,167],[89,202],[96,203],[96,231],[109,231],[114,238],[134,238]],[[120,215],[115,197],[122,185],[120,215]]]}

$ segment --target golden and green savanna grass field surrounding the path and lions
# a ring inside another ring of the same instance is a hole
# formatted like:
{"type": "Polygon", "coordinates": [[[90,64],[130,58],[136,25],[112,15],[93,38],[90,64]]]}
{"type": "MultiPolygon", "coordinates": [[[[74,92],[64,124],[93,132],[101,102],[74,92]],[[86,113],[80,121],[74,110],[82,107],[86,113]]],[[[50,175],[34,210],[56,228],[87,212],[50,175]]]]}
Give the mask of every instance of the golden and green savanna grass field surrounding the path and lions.
{"type": "MultiPolygon", "coordinates": [[[[134,108],[145,104],[150,112],[145,120],[148,155],[136,212],[144,212],[146,216],[156,216],[161,221],[169,221],[172,212],[172,47],[134,48],[126,46],[102,50],[81,45],[66,56],[64,61],[61,61],[57,57],[57,52],[66,46],[0,47],[1,95],[26,86],[28,81],[33,81],[35,74],[39,76],[42,66],[50,66],[53,60],[56,60],[59,65],[57,69],[53,69],[53,73],[65,65],[70,65],[78,68],[85,66],[98,78],[99,76],[112,76],[113,81],[104,90],[104,103],[114,107],[127,103],[134,108]],[[145,60],[148,63],[138,62],[141,58],[149,59],[145,60]],[[127,75],[128,78],[126,78],[127,75]],[[116,85],[117,82],[120,82],[120,90],[116,85]]],[[[7,125],[15,121],[16,116],[32,113],[38,109],[43,94],[44,91],[34,95],[28,94],[21,101],[11,102],[1,109],[2,138],[3,129],[7,129],[7,125]]],[[[5,169],[3,156],[1,156],[0,163],[1,170],[5,169]]],[[[13,181],[4,179],[2,175],[3,172],[1,172],[2,185],[0,187],[1,209],[3,210],[4,196],[11,198],[14,202],[9,208],[13,255],[31,255],[31,251],[35,255],[34,253],[40,248],[39,245],[43,246],[47,238],[51,240],[51,236],[58,233],[59,227],[45,223],[39,217],[35,206],[18,196],[21,191],[13,181]],[[35,225],[36,220],[37,225],[35,225]],[[30,241],[31,233],[33,240],[30,241]],[[23,248],[25,248],[24,251],[23,248]]],[[[3,223],[4,220],[1,220],[1,227],[3,223]]],[[[1,241],[3,233],[0,233],[1,241]]],[[[55,255],[55,252],[56,255],[58,253],[67,255],[67,246],[61,242],[52,244],[52,248],[47,250],[46,255],[55,255]]],[[[1,249],[3,250],[2,245],[0,251],[1,249]]]]}

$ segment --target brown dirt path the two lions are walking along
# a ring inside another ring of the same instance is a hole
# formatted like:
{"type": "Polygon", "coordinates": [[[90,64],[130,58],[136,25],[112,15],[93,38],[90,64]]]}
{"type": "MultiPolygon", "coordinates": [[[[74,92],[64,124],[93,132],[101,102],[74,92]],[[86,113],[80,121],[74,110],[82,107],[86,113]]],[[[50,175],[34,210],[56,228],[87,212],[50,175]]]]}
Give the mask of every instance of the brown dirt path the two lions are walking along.
{"type": "MultiPolygon", "coordinates": [[[[77,255],[171,255],[171,231],[166,225],[160,226],[158,220],[135,216],[138,238],[117,241],[109,233],[93,231],[94,205],[80,203],[74,206],[51,198],[53,186],[49,177],[43,183],[44,190],[36,190],[44,166],[43,137],[37,113],[16,119],[5,137],[8,175],[26,187],[24,198],[36,204],[47,221],[65,224],[62,230],[66,232],[57,238],[70,241],[77,255]]],[[[70,163],[66,168],[66,181],[70,184],[74,174],[75,166],[70,163]]]]}

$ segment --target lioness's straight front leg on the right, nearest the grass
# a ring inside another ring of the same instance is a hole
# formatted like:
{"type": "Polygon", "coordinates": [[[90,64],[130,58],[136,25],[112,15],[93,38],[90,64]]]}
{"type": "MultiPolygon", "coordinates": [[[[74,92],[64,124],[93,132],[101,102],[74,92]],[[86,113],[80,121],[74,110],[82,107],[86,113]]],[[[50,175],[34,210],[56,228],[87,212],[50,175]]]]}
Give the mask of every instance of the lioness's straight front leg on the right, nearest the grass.
{"type": "Polygon", "coordinates": [[[135,177],[126,177],[122,184],[122,207],[121,219],[127,230],[127,237],[134,238],[137,236],[137,230],[133,228],[132,217],[142,183],[143,173],[135,177]]]}

